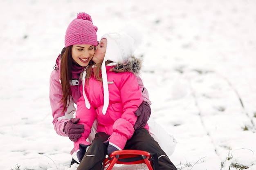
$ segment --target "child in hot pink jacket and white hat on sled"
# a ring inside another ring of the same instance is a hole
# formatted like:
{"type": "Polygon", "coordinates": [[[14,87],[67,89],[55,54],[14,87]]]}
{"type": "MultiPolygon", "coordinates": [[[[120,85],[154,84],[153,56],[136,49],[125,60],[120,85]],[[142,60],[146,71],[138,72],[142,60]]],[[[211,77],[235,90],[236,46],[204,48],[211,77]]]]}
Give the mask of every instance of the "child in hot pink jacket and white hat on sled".
{"type": "Polygon", "coordinates": [[[83,73],[76,118],[80,119],[79,124],[84,125],[85,131],[74,142],[81,161],[77,170],[101,170],[106,154],[123,149],[156,153],[159,167],[155,166],[155,170],[177,170],[150,136],[147,124],[134,129],[135,111],[143,101],[135,76],[141,68],[141,61],[133,57],[135,46],[135,37],[126,33],[103,35],[92,58],[95,64],[83,73]],[[86,139],[94,119],[99,124],[95,139],[90,143],[86,139]]]}

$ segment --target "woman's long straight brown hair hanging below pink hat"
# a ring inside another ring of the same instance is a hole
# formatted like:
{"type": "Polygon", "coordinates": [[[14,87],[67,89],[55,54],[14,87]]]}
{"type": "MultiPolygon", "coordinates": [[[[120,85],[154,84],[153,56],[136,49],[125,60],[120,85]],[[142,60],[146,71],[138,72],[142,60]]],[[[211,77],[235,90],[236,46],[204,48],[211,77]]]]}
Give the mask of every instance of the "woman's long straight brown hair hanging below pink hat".
{"type": "Polygon", "coordinates": [[[69,105],[70,97],[72,97],[72,91],[70,88],[70,79],[72,79],[72,46],[68,46],[61,56],[61,87],[62,87],[62,99],[61,103],[63,103],[63,110],[65,111],[66,107],[69,105]]]}

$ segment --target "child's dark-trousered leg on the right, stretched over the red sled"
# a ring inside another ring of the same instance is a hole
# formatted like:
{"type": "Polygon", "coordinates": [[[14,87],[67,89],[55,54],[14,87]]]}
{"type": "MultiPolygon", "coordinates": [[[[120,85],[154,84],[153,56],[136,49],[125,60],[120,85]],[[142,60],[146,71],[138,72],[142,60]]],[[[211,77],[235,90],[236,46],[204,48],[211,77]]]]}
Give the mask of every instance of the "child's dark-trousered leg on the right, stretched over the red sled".
{"type": "Polygon", "coordinates": [[[156,153],[158,157],[159,170],[177,170],[159,144],[150,136],[148,130],[135,130],[131,139],[126,142],[124,149],[144,150],[156,153]]]}

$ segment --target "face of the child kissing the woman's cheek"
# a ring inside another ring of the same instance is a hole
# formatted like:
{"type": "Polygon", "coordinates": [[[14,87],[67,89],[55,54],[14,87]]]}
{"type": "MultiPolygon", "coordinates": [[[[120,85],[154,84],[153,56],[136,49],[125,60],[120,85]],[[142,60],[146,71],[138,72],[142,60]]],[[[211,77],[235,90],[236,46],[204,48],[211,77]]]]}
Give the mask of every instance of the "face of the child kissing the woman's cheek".
{"type": "Polygon", "coordinates": [[[95,47],[94,56],[92,57],[92,61],[96,64],[102,62],[107,49],[107,39],[103,38],[99,45],[95,47]]]}

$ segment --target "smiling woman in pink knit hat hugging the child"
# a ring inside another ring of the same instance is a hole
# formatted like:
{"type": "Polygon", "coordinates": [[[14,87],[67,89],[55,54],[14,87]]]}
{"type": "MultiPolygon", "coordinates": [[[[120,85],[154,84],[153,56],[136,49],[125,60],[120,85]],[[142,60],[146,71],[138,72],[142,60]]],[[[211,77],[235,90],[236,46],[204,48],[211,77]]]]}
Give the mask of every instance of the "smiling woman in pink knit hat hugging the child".
{"type": "MultiPolygon", "coordinates": [[[[84,126],[77,124],[79,119],[74,118],[76,112],[75,104],[80,97],[79,76],[85,66],[88,66],[94,55],[94,47],[98,45],[97,26],[94,26],[90,15],[78,13],[77,18],[67,27],[65,34],[65,48],[61,55],[57,57],[54,70],[50,76],[49,99],[52,108],[54,129],[58,135],[68,136],[71,141],[77,141],[84,132],[84,126]],[[80,44],[80,45],[79,45],[80,44]]],[[[151,113],[148,91],[144,87],[140,77],[137,77],[140,85],[143,100],[141,106],[136,111],[139,116],[135,129],[141,128],[149,118],[151,113]],[[142,111],[143,110],[143,111],[142,111]]],[[[97,121],[88,141],[95,137],[97,121]]],[[[76,159],[74,151],[71,152],[76,159]]],[[[77,160],[77,159],[76,159],[77,160]]],[[[72,159],[72,163],[76,161],[72,159]]],[[[76,162],[77,163],[77,162],[76,162]]]]}

